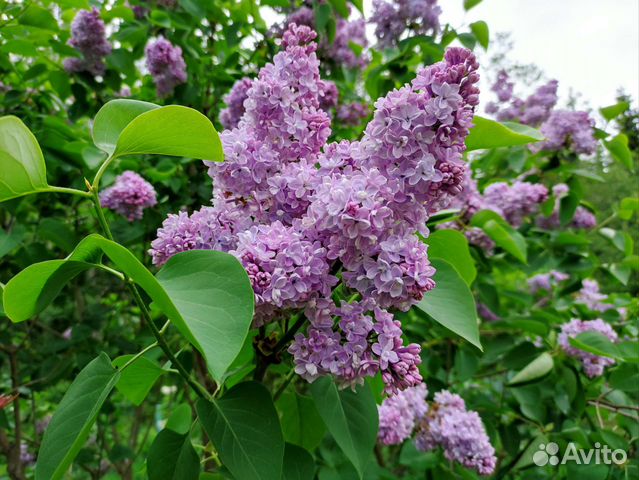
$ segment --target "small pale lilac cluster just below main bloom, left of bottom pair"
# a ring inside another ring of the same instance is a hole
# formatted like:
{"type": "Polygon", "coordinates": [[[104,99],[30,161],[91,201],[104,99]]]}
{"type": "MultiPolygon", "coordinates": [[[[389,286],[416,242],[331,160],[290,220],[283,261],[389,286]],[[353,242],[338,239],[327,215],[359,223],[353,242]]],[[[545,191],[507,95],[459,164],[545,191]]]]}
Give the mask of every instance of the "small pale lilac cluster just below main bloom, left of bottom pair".
{"type": "Polygon", "coordinates": [[[379,441],[384,445],[399,445],[409,438],[417,423],[428,412],[427,395],[426,384],[422,383],[386,398],[377,407],[379,441]]]}

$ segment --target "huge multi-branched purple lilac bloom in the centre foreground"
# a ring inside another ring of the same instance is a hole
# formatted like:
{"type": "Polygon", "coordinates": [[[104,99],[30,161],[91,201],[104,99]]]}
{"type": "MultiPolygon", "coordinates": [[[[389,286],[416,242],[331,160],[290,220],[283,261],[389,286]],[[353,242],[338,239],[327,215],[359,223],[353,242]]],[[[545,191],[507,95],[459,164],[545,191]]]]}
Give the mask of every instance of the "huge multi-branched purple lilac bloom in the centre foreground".
{"type": "Polygon", "coordinates": [[[310,321],[289,348],[299,375],[355,385],[381,372],[395,393],[421,382],[420,347],[404,345],[387,309],[407,310],[434,287],[415,233],[461,190],[478,65],[448,50],[376,103],[360,142],[326,144],[315,37],[307,26],[284,32],[237,127],[221,134],[226,161],[206,162],[215,206],[170,216],[150,253],[161,265],[193,248],[230,252],[251,279],[256,325],[302,309],[310,321]],[[337,271],[361,301],[331,300],[337,271]]]}

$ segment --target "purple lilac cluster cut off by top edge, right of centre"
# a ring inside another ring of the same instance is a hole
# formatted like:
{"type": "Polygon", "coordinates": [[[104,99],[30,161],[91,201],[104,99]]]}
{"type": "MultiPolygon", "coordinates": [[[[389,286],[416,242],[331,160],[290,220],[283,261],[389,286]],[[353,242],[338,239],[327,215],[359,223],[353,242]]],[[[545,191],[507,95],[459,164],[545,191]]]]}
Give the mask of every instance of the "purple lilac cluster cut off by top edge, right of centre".
{"type": "Polygon", "coordinates": [[[370,23],[375,24],[379,43],[390,46],[408,29],[419,35],[436,34],[441,13],[437,0],[374,0],[370,23]]]}

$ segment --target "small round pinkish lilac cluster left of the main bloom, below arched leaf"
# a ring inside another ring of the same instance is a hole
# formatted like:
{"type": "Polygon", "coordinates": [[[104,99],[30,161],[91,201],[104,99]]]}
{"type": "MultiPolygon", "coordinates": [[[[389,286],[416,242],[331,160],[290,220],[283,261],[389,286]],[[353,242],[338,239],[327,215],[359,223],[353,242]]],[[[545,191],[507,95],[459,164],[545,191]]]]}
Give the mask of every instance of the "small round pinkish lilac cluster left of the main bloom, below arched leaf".
{"type": "Polygon", "coordinates": [[[135,172],[126,171],[112,187],[100,193],[102,206],[116,211],[129,222],[142,218],[145,208],[157,204],[153,185],[135,172]]]}

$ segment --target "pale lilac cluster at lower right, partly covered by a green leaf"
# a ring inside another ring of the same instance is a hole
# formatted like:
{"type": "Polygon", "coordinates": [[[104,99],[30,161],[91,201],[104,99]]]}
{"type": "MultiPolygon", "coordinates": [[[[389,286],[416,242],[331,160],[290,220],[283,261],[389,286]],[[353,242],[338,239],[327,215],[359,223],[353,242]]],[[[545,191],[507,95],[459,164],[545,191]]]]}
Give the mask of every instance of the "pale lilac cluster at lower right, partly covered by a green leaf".
{"type": "Polygon", "coordinates": [[[578,348],[573,347],[570,344],[569,339],[575,338],[580,333],[584,332],[598,332],[608,337],[611,342],[617,341],[617,332],[613,328],[604,322],[601,318],[595,320],[582,321],[579,319],[573,319],[568,323],[561,326],[561,333],[559,334],[559,345],[566,354],[571,357],[575,357],[581,360],[584,367],[584,373],[590,377],[599,377],[603,375],[604,369],[615,364],[612,358],[600,357],[594,353],[585,352],[578,348]]]}

